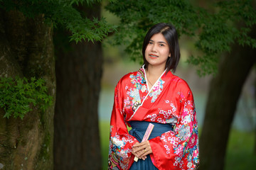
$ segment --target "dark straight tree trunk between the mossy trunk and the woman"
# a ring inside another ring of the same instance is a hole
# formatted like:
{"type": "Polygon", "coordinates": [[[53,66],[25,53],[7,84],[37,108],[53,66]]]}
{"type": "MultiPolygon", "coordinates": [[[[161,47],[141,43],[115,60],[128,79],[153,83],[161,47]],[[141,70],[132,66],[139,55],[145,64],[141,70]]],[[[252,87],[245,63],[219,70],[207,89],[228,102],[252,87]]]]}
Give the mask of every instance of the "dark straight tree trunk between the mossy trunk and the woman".
{"type": "MultiPolygon", "coordinates": [[[[100,4],[79,9],[87,17],[100,18],[100,4]]],[[[68,33],[60,30],[54,37],[58,44],[54,169],[102,169],[97,115],[102,45],[68,42],[68,33]]]]}

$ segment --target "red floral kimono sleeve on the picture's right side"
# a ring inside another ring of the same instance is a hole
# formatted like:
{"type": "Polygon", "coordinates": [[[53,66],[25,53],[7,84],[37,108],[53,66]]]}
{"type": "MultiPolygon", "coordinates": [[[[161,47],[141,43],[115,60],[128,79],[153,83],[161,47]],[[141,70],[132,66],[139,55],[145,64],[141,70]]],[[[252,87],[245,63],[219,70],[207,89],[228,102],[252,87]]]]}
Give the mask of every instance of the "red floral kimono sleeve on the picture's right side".
{"type": "Polygon", "coordinates": [[[151,158],[158,169],[198,169],[198,125],[193,94],[179,91],[177,103],[180,109],[174,131],[149,140],[151,158]]]}

